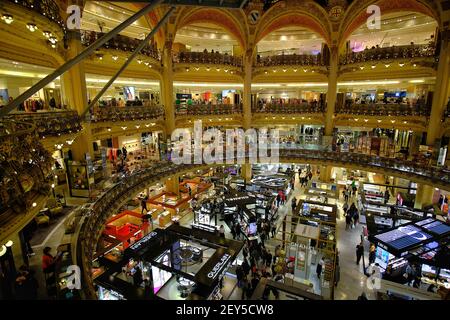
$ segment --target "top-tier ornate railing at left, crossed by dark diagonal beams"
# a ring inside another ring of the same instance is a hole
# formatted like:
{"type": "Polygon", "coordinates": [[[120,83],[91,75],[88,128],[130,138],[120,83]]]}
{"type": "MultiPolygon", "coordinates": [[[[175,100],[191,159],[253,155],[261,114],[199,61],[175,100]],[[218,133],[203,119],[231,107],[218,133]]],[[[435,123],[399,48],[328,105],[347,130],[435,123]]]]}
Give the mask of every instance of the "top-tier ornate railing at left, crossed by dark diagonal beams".
{"type": "MultiPolygon", "coordinates": [[[[104,33],[99,33],[95,31],[82,30],[81,31],[81,41],[85,46],[90,46],[94,41],[103,36],[104,33]]],[[[123,35],[117,35],[113,37],[111,40],[106,42],[103,45],[105,49],[116,49],[121,51],[134,51],[142,40],[130,38],[123,35]]],[[[157,50],[157,48],[151,46],[150,44],[146,45],[140,52],[143,55],[151,57],[155,60],[161,60],[161,53],[157,50]]]]}

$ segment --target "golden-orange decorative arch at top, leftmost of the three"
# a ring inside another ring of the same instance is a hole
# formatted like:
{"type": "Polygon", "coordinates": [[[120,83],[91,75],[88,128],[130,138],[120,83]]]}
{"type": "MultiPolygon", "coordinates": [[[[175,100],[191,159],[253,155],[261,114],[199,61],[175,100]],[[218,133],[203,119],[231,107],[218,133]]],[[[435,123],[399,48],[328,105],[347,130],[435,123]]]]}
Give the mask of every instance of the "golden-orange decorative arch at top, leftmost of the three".
{"type": "Polygon", "coordinates": [[[212,23],[222,27],[235,38],[243,49],[246,48],[246,32],[238,19],[226,10],[213,8],[186,9],[179,14],[175,34],[181,28],[194,23],[212,23]]]}

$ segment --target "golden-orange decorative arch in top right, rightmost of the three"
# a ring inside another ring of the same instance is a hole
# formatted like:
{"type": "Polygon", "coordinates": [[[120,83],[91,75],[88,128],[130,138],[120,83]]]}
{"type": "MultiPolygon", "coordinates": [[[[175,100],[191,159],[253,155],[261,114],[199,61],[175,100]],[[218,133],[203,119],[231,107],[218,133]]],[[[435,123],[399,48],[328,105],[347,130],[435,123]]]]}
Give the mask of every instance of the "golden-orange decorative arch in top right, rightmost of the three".
{"type": "Polygon", "coordinates": [[[340,28],[339,45],[342,46],[350,35],[364,23],[366,23],[370,14],[367,8],[370,5],[377,5],[381,9],[381,14],[389,14],[392,12],[411,11],[427,15],[441,26],[441,17],[439,9],[432,1],[419,0],[369,0],[354,1],[346,10],[343,17],[343,24],[340,28]]]}

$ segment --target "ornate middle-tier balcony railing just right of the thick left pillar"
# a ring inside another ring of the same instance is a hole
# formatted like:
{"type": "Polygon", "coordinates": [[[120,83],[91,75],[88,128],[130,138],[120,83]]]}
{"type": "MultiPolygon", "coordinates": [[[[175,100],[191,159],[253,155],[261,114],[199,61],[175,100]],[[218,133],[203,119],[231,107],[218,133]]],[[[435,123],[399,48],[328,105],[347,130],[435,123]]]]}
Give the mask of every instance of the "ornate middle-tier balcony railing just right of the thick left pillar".
{"type": "Polygon", "coordinates": [[[163,107],[101,107],[93,115],[93,122],[164,119],[163,107]]]}

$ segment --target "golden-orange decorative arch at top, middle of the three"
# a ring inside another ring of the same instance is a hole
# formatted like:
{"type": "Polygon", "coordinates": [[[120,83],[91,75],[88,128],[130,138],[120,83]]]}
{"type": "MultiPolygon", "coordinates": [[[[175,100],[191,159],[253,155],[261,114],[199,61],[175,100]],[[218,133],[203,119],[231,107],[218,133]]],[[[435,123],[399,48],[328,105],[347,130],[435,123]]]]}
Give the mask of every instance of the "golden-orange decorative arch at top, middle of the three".
{"type": "Polygon", "coordinates": [[[261,18],[256,32],[256,43],[273,31],[285,27],[301,26],[319,34],[331,43],[331,27],[325,10],[315,2],[281,1],[261,18]]]}

